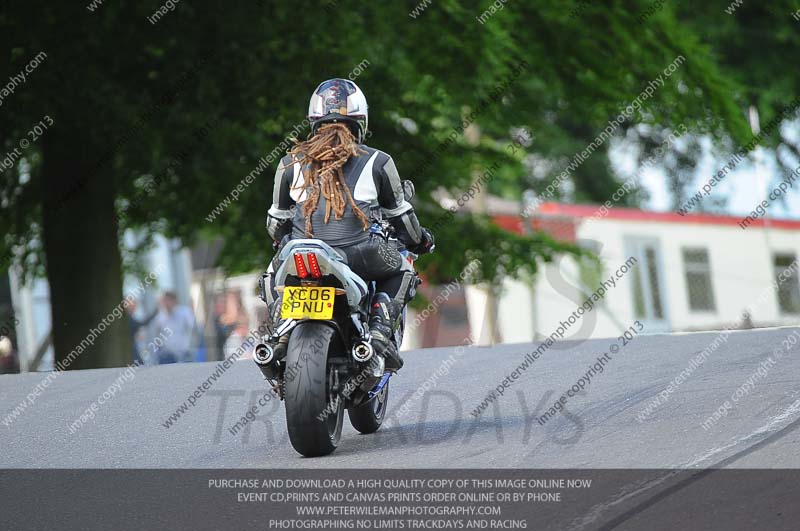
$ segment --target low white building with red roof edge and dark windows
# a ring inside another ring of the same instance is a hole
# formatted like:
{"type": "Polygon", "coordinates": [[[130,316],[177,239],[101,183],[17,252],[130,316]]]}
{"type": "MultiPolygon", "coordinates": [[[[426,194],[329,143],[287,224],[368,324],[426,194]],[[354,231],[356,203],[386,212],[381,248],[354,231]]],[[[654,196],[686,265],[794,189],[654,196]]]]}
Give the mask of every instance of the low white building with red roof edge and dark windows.
{"type": "MultiPolygon", "coordinates": [[[[602,271],[590,261],[565,258],[540,268],[533,287],[506,281],[497,301],[501,341],[541,339],[562,324],[567,325],[564,339],[578,339],[616,336],[636,320],[646,333],[800,323],[795,262],[800,221],[758,220],[742,229],[741,219],[731,216],[620,207],[599,216],[596,206],[545,203],[528,221],[596,251],[602,271]],[[794,270],[776,290],[778,275],[789,266],[794,270]],[[608,280],[612,276],[615,285],[608,280]],[[609,286],[602,301],[568,323],[602,280],[609,286]],[[745,311],[749,318],[742,319],[745,311]]],[[[509,230],[527,230],[517,215],[494,219],[509,230]]],[[[486,335],[486,303],[485,290],[468,288],[470,329],[476,337],[486,335]]]]}

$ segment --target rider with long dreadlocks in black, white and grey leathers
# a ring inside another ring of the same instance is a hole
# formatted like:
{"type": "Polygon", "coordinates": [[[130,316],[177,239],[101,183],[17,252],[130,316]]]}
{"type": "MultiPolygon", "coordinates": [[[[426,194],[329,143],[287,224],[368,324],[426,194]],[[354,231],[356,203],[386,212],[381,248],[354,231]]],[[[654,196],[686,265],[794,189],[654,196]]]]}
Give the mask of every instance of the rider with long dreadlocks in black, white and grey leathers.
{"type": "MultiPolygon", "coordinates": [[[[372,346],[386,360],[387,369],[400,369],[403,360],[393,331],[415,293],[416,278],[396,245],[369,228],[380,219],[388,221],[395,237],[416,254],[430,252],[433,235],[420,226],[406,201],[392,157],[363,143],[367,100],[355,83],[322,82],[311,95],[308,119],[311,135],[295,141],[275,172],[267,231],[276,243],[290,238],[323,240],[353,272],[376,282],[369,315],[372,346]]],[[[272,297],[269,314],[277,324],[281,301],[274,292],[272,297]]],[[[282,336],[273,345],[276,357],[285,354],[287,341],[288,336],[282,336]]]]}

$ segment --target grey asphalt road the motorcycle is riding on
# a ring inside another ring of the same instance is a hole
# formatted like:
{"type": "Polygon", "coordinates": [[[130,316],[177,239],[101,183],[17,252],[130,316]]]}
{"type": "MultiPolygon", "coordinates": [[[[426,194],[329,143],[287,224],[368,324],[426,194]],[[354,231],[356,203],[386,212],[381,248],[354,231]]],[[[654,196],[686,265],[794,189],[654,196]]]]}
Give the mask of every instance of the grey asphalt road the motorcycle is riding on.
{"type": "MultiPolygon", "coordinates": [[[[170,414],[215,364],[141,368],[129,381],[118,380],[120,369],[68,372],[9,425],[0,422],[0,468],[800,468],[800,342],[782,345],[799,331],[732,332],[694,369],[690,360],[717,333],[639,336],[569,398],[567,414],[544,425],[536,417],[615,339],[565,342],[545,352],[477,420],[470,412],[532,345],[408,352],[391,380],[389,414],[412,396],[407,412],[373,435],[358,434],[346,420],[339,449],[317,459],[294,452],[277,400],[231,435],[265,391],[250,360],[234,363],[169,428],[170,414]],[[450,355],[449,368],[439,371],[445,374],[414,397],[450,355]],[[691,374],[664,403],[637,418],[687,369],[691,374]],[[115,381],[116,395],[93,420],[71,429],[115,381]],[[705,429],[701,424],[737,389],[741,396],[727,416],[705,429]]],[[[44,377],[0,376],[0,421],[44,377]]]]}

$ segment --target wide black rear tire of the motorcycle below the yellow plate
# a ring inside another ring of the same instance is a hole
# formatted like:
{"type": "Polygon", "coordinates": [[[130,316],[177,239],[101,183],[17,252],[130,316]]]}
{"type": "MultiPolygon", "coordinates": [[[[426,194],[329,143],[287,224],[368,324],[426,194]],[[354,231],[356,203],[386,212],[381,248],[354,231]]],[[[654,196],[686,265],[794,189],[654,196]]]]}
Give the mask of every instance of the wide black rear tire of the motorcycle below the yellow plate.
{"type": "Polygon", "coordinates": [[[331,396],[328,371],[338,343],[330,326],[307,321],[292,331],[286,349],[286,426],[292,446],[306,457],[330,454],[342,435],[344,401],[331,396]]]}

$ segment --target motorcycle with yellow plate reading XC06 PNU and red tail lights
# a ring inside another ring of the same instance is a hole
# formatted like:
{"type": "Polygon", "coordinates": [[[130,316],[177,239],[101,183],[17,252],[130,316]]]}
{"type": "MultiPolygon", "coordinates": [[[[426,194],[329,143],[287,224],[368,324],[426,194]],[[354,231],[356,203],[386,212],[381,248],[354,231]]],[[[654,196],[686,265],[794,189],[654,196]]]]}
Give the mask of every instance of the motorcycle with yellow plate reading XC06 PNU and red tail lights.
{"type": "MultiPolygon", "coordinates": [[[[404,181],[403,187],[410,198],[413,184],[404,181]]],[[[372,237],[387,238],[413,265],[417,255],[393,238],[386,221],[376,220],[370,232],[372,237]]],[[[421,283],[418,274],[414,278],[412,296],[421,283]]],[[[297,239],[286,242],[260,279],[261,298],[267,304],[273,284],[282,294],[283,321],[256,345],[253,358],[285,403],[294,449],[306,457],[336,450],[345,409],[357,431],[378,431],[394,372],[385,369],[383,357],[375,354],[371,344],[368,318],[375,283],[356,275],[344,257],[322,240],[297,239]],[[283,336],[288,336],[286,355],[277,359],[270,345],[283,336]]],[[[405,321],[404,308],[394,331],[398,348],[405,321]]]]}

